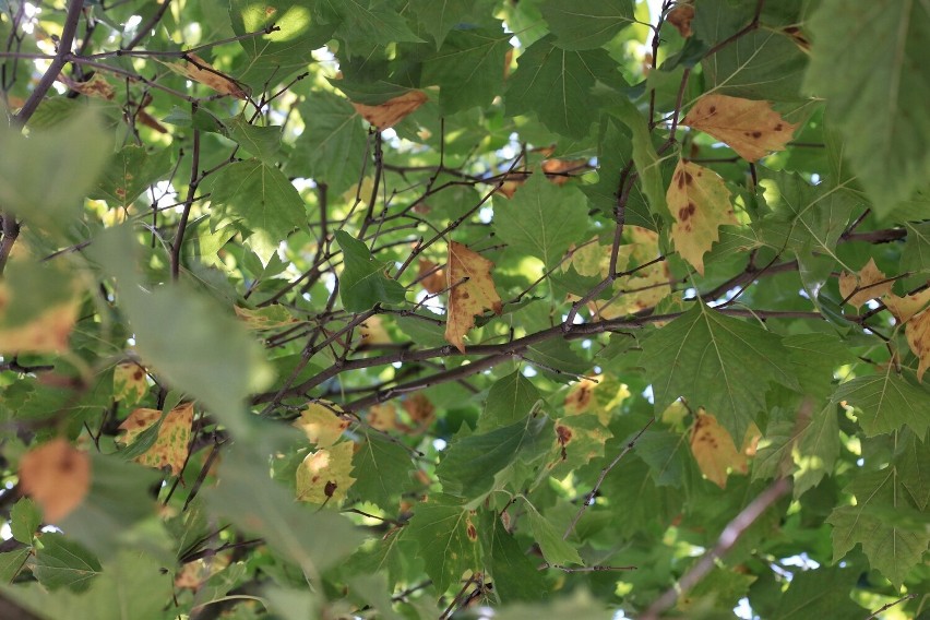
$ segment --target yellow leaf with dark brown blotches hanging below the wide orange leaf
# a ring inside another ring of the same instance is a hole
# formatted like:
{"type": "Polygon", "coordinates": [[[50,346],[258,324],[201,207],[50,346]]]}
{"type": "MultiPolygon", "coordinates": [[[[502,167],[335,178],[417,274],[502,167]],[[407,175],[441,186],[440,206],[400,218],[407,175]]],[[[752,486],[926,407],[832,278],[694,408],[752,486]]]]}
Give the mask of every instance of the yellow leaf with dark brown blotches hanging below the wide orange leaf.
{"type": "Polygon", "coordinates": [[[704,275],[704,253],[720,238],[717,229],[724,224],[739,224],[730,191],[715,171],[681,159],[671,175],[666,201],[675,218],[675,249],[704,275]]]}

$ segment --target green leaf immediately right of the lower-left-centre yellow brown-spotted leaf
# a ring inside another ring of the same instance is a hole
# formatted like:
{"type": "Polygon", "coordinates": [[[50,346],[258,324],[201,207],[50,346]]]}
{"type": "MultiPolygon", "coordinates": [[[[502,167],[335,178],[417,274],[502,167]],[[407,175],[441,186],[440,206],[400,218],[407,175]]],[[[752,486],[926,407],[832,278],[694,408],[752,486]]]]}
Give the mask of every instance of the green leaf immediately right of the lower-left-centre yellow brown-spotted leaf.
{"type": "Polygon", "coordinates": [[[395,510],[401,492],[410,485],[414,467],[409,453],[397,443],[368,433],[353,455],[351,464],[356,480],[349,496],[386,511],[395,510]]]}

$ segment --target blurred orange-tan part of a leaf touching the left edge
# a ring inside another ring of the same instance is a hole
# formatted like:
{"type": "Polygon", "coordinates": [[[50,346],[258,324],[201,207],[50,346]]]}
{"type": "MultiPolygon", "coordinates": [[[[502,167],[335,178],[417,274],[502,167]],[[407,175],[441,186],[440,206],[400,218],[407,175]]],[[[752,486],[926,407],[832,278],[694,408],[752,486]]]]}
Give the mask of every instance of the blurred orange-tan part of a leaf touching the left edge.
{"type": "MultiPolygon", "coordinates": [[[[0,320],[10,306],[7,284],[0,282],[0,320]]],[[[78,319],[76,298],[45,308],[28,323],[0,326],[0,353],[58,353],[68,348],[68,336],[78,319]]]]}

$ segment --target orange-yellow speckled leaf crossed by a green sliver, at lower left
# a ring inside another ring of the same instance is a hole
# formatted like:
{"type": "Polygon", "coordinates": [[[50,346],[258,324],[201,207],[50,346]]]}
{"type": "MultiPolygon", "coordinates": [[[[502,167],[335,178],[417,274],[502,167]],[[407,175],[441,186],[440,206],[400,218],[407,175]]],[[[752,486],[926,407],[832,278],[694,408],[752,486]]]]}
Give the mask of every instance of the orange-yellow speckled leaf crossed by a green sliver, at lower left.
{"type": "Polygon", "coordinates": [[[145,429],[162,420],[158,436],[148,449],[135,457],[138,463],[147,467],[160,469],[170,467],[171,475],[177,476],[188,456],[193,424],[193,403],[184,403],[168,412],[162,419],[158,409],[135,409],[119,426],[124,430],[123,440],[132,444],[145,429]]]}

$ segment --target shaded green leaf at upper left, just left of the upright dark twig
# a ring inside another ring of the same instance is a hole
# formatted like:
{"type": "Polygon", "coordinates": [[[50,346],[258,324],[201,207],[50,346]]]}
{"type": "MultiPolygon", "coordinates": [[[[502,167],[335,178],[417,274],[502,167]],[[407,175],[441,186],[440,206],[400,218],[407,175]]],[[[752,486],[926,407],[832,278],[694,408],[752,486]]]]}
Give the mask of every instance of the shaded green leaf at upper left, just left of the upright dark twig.
{"type": "Polygon", "coordinates": [[[127,207],[150,186],[171,171],[171,151],[163,148],[148,152],[129,144],[114,155],[91,198],[107,201],[110,207],[127,207]]]}

